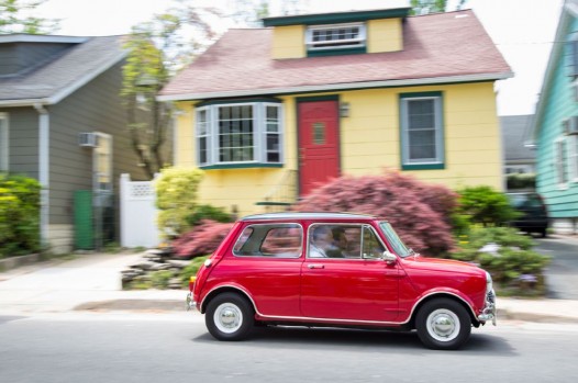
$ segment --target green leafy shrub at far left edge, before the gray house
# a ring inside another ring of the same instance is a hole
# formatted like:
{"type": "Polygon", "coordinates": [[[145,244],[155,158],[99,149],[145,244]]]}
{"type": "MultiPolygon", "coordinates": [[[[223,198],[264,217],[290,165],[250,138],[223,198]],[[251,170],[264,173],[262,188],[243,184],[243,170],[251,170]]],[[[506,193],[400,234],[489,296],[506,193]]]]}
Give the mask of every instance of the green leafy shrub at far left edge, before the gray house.
{"type": "Polygon", "coordinates": [[[0,173],[0,258],[38,251],[40,183],[0,173]]]}

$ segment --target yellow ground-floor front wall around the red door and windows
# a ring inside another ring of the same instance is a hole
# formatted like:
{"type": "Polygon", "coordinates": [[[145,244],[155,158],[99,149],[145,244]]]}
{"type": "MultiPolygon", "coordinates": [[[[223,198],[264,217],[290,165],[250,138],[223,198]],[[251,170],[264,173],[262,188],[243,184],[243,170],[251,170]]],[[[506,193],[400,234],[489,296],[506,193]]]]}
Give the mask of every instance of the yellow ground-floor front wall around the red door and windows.
{"type": "MultiPolygon", "coordinates": [[[[377,174],[384,169],[400,169],[399,95],[426,91],[443,93],[445,169],[404,172],[453,189],[487,184],[502,190],[500,132],[491,82],[342,92],[340,100],[349,103],[349,116],[340,121],[342,173],[377,174]]],[[[236,205],[240,215],[265,211],[255,203],[263,201],[288,170],[297,169],[298,97],[280,98],[284,101],[285,167],[207,170],[200,190],[203,203],[227,210],[236,205]]],[[[177,121],[175,165],[193,167],[192,103],[180,106],[184,113],[177,121]]]]}

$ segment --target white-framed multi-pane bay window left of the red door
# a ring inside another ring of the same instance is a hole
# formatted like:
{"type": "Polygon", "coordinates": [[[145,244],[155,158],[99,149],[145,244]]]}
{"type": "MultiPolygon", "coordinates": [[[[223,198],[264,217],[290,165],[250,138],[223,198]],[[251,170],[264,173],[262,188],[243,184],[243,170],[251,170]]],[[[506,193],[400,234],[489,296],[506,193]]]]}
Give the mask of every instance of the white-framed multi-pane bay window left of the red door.
{"type": "Polygon", "coordinates": [[[281,104],[238,102],[202,104],[196,119],[200,167],[280,166],[281,104]]]}

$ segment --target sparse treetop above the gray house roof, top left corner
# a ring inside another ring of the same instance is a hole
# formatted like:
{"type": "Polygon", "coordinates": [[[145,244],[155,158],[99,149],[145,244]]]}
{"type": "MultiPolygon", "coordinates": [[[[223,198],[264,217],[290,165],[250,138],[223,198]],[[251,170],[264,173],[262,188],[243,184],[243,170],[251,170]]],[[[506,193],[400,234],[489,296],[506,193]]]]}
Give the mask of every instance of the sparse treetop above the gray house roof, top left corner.
{"type": "Polygon", "coordinates": [[[58,29],[58,21],[33,16],[46,0],[0,0],[0,34],[47,34],[58,29]]]}

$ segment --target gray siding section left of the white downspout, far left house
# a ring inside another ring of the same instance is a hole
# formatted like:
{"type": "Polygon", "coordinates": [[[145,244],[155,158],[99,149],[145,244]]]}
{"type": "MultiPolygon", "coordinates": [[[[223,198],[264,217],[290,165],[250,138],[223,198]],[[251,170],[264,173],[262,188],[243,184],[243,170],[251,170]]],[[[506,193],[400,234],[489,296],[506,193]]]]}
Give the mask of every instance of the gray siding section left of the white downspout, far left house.
{"type": "Polygon", "coordinates": [[[33,108],[0,109],[8,113],[10,172],[38,179],[38,113],[33,108]]]}

